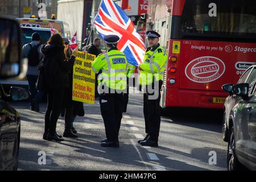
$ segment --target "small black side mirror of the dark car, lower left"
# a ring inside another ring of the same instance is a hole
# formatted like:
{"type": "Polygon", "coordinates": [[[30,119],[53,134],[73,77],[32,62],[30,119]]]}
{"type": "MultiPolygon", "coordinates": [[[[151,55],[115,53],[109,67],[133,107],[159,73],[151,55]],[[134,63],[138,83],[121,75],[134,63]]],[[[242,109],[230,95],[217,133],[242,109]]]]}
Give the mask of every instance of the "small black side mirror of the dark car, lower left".
{"type": "Polygon", "coordinates": [[[24,101],[30,98],[30,92],[23,88],[11,86],[10,97],[13,101],[24,101]]]}

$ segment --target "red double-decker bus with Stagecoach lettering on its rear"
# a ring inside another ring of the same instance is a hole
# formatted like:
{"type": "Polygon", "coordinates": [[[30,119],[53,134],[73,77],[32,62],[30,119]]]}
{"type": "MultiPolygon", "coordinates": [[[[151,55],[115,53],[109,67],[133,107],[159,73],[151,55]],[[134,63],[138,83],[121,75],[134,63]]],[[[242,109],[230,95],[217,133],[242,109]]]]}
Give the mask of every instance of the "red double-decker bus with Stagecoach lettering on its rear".
{"type": "Polygon", "coordinates": [[[147,30],[168,52],[160,105],[223,108],[221,86],[256,63],[256,1],[149,0],[147,30]]]}

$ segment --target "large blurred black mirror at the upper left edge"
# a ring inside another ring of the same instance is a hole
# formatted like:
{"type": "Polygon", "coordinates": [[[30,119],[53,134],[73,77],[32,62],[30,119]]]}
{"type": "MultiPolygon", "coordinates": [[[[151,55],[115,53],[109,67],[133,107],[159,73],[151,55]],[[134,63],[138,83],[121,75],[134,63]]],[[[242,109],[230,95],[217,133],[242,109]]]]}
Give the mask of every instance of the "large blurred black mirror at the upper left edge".
{"type": "Polygon", "coordinates": [[[16,77],[23,72],[21,44],[19,23],[0,18],[0,78],[16,77]]]}

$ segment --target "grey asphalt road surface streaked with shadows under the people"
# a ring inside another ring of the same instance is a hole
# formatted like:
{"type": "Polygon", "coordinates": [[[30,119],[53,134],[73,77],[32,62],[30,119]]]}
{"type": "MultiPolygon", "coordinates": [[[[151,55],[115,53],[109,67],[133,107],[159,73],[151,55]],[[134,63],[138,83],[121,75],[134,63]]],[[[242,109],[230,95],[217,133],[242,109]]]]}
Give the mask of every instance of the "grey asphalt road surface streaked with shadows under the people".
{"type": "MultiPolygon", "coordinates": [[[[22,117],[18,170],[106,170],[106,171],[205,171],[226,170],[227,143],[222,140],[222,111],[179,109],[162,117],[159,147],[142,147],[144,138],[143,97],[130,94],[123,114],[119,148],[105,148],[105,128],[98,101],[84,104],[85,116],[74,123],[79,138],[63,142],[43,140],[46,103],[40,113],[28,110],[28,102],[11,102],[22,117]],[[44,155],[45,154],[45,155],[44,155]],[[213,158],[216,156],[216,158],[213,158]],[[43,160],[46,159],[46,160],[43,160]]],[[[64,118],[57,122],[63,134],[64,118]]]]}

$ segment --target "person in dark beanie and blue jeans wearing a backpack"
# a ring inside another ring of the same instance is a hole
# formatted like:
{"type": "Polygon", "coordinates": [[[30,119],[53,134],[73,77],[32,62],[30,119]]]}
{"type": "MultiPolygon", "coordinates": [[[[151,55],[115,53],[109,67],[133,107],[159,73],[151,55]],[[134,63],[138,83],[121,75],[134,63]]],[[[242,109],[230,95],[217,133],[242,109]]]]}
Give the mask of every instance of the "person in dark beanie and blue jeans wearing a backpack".
{"type": "Polygon", "coordinates": [[[43,54],[41,52],[42,44],[40,44],[40,35],[38,32],[32,34],[31,43],[25,44],[22,48],[23,56],[28,59],[27,81],[28,90],[31,93],[30,110],[39,112],[39,102],[42,100],[43,91],[36,90],[36,82],[38,81],[38,65],[42,62],[43,54]]]}

